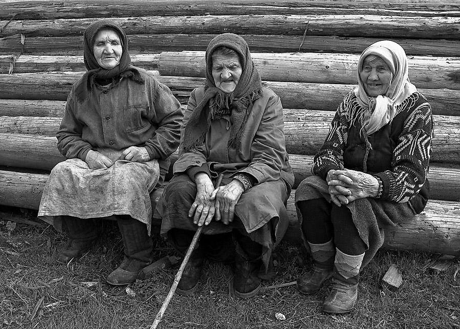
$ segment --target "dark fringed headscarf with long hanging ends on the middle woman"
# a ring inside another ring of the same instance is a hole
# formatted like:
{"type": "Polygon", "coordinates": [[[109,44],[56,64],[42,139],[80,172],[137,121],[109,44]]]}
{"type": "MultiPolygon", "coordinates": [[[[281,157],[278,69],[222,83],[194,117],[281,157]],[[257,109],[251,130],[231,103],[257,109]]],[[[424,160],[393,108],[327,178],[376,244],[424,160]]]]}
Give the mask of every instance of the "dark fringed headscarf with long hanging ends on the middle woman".
{"type": "Polygon", "coordinates": [[[214,113],[219,112],[222,107],[229,107],[232,110],[231,121],[233,124],[228,146],[232,146],[239,151],[249,106],[260,96],[261,86],[260,76],[254,62],[252,62],[249,46],[242,37],[233,33],[224,33],[212,39],[208,49],[206,49],[206,83],[203,99],[196,106],[186,124],[183,149],[190,151],[194,147],[202,145],[211,125],[211,119],[214,118],[214,113]],[[235,90],[229,94],[224,93],[214,84],[212,55],[214,50],[219,47],[235,50],[241,62],[242,73],[240,80],[235,90]],[[206,106],[208,103],[209,106],[206,106]]]}

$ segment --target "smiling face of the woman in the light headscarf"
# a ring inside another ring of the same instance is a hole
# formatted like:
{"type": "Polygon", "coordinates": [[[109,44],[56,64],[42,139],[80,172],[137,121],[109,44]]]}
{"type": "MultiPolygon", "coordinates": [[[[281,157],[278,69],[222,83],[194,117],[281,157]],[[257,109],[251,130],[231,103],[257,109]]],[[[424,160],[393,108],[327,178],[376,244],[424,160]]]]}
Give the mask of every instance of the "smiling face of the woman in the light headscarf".
{"type": "Polygon", "coordinates": [[[392,71],[378,56],[367,56],[362,63],[361,81],[368,96],[385,95],[392,82],[392,71]]]}

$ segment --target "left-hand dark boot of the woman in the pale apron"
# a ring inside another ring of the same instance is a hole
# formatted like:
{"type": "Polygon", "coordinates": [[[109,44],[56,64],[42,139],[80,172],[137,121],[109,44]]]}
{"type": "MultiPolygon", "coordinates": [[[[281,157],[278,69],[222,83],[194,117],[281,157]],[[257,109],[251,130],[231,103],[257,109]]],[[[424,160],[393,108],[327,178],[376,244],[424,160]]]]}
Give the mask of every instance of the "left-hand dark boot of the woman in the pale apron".
{"type": "Polygon", "coordinates": [[[67,246],[58,254],[57,260],[67,264],[73,258],[82,256],[93,247],[99,237],[99,231],[93,219],[61,216],[64,231],[69,240],[67,246]]]}

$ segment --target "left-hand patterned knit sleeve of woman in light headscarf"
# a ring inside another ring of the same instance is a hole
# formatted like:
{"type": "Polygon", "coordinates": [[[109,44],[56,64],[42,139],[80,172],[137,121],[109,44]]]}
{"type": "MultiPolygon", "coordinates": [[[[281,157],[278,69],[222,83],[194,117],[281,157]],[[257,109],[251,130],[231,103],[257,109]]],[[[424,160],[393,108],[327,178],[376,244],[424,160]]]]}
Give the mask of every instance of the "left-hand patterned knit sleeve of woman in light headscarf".
{"type": "Polygon", "coordinates": [[[326,140],[313,159],[311,172],[324,180],[331,169],[343,169],[343,149],[347,143],[348,122],[342,102],[332,119],[326,140]]]}

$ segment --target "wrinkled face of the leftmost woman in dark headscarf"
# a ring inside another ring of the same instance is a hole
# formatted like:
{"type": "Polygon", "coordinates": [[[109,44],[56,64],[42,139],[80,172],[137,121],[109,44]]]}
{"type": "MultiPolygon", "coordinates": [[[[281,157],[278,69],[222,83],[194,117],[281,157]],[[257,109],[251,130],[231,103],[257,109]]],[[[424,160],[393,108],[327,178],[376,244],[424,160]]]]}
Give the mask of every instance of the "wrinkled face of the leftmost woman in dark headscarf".
{"type": "Polygon", "coordinates": [[[96,34],[93,53],[99,66],[111,69],[120,64],[123,47],[118,33],[111,29],[102,29],[96,34]]]}

